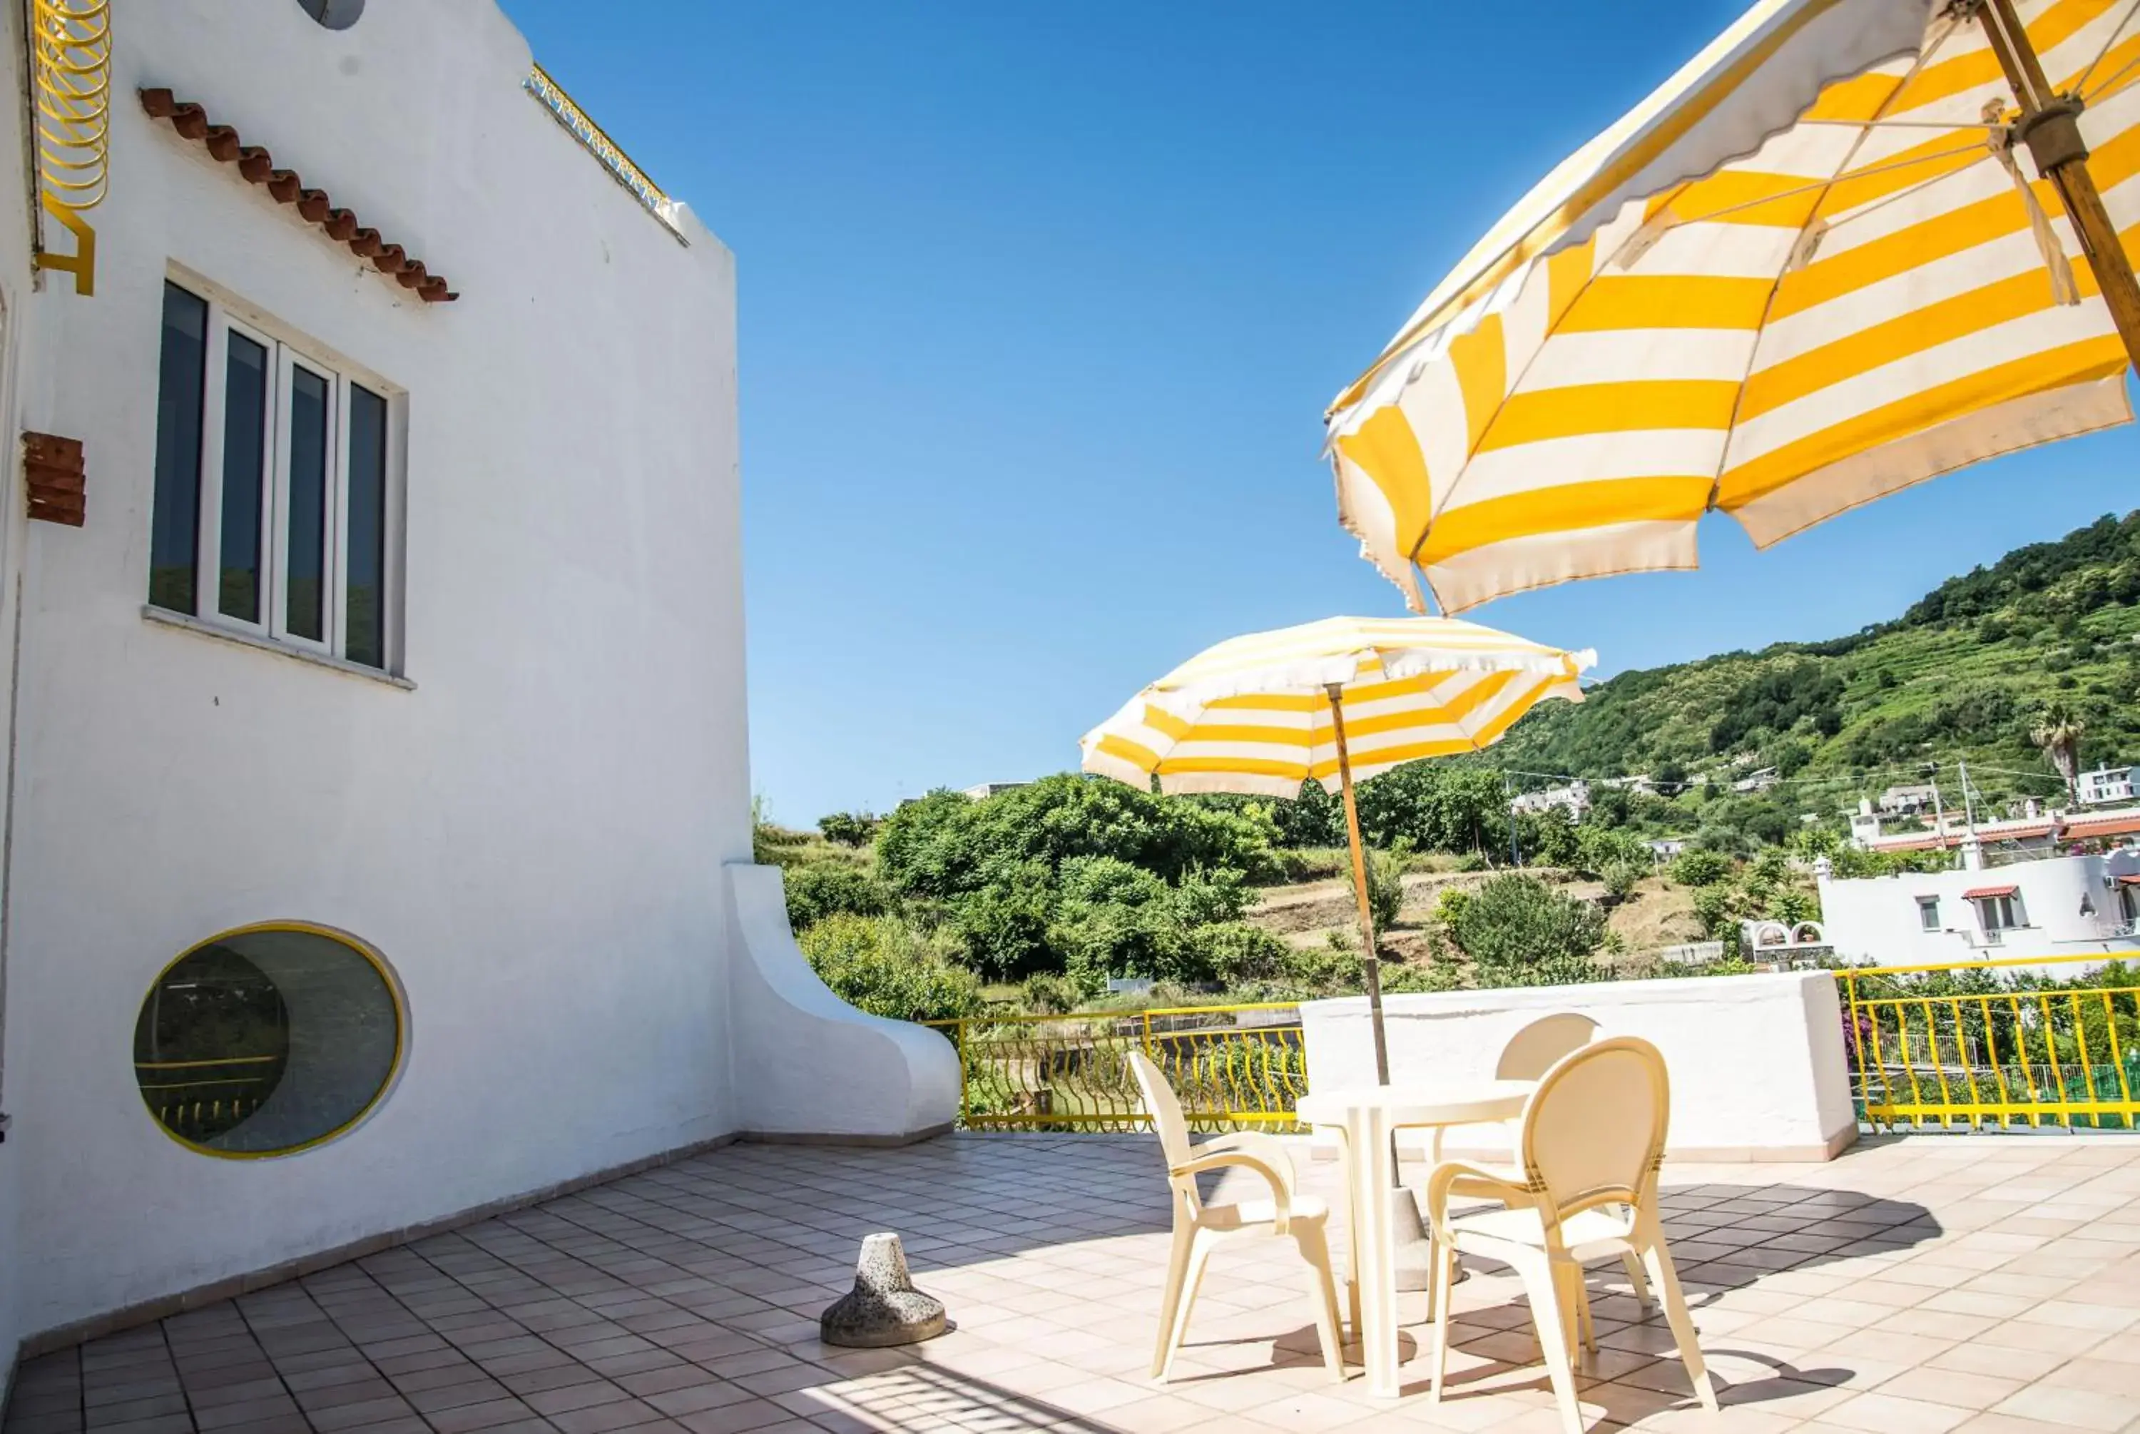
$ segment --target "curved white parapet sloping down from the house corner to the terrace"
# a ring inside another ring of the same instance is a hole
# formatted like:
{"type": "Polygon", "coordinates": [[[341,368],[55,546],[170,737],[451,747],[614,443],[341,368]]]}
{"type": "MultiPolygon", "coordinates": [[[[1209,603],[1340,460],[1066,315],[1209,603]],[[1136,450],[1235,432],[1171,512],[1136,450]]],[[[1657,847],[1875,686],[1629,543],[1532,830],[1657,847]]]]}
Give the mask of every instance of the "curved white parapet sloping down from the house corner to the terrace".
{"type": "Polygon", "coordinates": [[[743,1132],[920,1141],[959,1117],[959,1053],[937,1032],[856,1010],[788,927],[781,869],[728,863],[730,1015],[743,1132]]]}

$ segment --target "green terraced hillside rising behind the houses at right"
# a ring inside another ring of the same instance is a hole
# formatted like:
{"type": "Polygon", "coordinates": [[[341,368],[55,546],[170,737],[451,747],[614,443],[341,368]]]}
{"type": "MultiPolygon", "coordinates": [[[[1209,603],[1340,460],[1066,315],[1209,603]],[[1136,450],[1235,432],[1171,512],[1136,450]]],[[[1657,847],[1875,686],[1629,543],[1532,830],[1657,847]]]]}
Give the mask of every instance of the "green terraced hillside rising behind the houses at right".
{"type": "Polygon", "coordinates": [[[2016,548],[1847,638],[1622,672],[1581,706],[1534,711],[1487,760],[1507,773],[1648,773],[1665,790],[1708,775],[1706,794],[1637,798],[1629,815],[1708,824],[1736,803],[1768,811],[1733,811],[1725,824],[1774,830],[1778,818],[1828,818],[1890,783],[1922,781],[1926,762],[1939,762],[1950,800],[1956,762],[1994,807],[2059,796],[2063,781],[2031,741],[2046,713],[2080,719],[2086,771],[2140,760],[2136,698],[2140,512],[2016,548]],[[1770,766],[1783,783],[1757,800],[1721,790],[1770,766]],[[1716,803],[1725,809],[1708,811],[1716,803]]]}

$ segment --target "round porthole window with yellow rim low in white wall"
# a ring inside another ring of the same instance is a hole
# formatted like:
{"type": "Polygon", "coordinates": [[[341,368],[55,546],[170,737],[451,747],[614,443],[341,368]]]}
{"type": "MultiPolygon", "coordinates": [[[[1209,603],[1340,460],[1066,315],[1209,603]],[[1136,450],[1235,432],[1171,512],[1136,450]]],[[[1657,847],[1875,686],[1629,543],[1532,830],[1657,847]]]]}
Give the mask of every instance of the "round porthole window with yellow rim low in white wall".
{"type": "Polygon", "coordinates": [[[402,1051],[379,957],[319,927],[248,927],[163,967],[135,1021],[150,1115],[212,1156],[285,1156],[349,1130],[402,1051]]]}

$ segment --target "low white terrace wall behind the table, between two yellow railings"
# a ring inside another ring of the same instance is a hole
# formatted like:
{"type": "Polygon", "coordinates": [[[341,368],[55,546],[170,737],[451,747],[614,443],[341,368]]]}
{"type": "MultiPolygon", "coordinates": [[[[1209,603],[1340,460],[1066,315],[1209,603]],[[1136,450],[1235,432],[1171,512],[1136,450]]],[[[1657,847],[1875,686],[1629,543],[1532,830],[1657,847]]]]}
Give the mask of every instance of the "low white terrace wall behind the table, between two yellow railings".
{"type": "MultiPolygon", "coordinates": [[[[1665,1053],[1671,1156],[1828,1160],[1858,1132],[1828,972],[1389,995],[1389,1079],[1432,1087],[1492,1077],[1509,1036],[1554,1010],[1579,1010],[1599,1036],[1641,1036],[1665,1053]]],[[[1374,1085],[1365,997],[1308,1002],[1301,1023],[1310,1089],[1374,1085]]],[[[1507,1149],[1466,1134],[1451,1136],[1451,1149],[1507,1149]]]]}

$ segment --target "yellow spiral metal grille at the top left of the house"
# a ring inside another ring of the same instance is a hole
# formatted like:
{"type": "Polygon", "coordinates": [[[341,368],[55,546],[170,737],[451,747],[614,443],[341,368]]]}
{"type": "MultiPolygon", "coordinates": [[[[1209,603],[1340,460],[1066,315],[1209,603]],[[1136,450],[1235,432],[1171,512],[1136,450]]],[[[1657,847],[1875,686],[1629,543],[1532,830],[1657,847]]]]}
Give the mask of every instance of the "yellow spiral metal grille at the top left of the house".
{"type": "Polygon", "coordinates": [[[111,180],[111,0],[30,0],[30,73],[41,201],[79,240],[75,255],[41,253],[39,268],[92,293],[96,233],[81,212],[111,180]]]}

